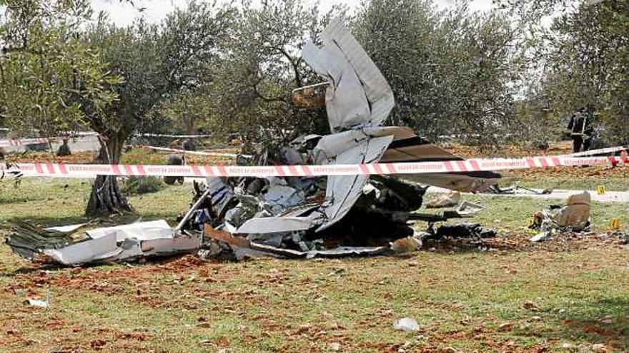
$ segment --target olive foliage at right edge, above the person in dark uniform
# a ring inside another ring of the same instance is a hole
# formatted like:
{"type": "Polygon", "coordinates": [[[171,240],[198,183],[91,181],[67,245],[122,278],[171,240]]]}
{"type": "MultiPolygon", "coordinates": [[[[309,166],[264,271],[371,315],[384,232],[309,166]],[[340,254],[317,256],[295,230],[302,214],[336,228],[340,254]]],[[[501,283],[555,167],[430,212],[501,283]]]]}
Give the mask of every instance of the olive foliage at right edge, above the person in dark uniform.
{"type": "Polygon", "coordinates": [[[555,20],[543,88],[555,116],[581,106],[600,113],[603,138],[629,138],[629,3],[581,5],[555,20]]]}

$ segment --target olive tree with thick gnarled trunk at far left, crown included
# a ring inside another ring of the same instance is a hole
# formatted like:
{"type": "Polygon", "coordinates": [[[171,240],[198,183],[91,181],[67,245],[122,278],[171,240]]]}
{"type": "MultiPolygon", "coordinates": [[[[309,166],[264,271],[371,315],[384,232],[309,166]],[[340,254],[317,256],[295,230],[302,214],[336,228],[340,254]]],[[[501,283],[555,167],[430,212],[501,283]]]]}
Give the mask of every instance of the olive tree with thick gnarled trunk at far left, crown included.
{"type": "MultiPolygon", "coordinates": [[[[119,163],[124,143],[153,108],[208,80],[203,70],[229,26],[229,8],[189,4],[162,24],[117,28],[89,1],[6,0],[1,22],[0,112],[14,128],[82,125],[99,134],[100,163],[119,163]],[[87,29],[86,29],[87,28],[87,29]]],[[[131,210],[117,179],[99,175],[86,214],[131,210]]]]}

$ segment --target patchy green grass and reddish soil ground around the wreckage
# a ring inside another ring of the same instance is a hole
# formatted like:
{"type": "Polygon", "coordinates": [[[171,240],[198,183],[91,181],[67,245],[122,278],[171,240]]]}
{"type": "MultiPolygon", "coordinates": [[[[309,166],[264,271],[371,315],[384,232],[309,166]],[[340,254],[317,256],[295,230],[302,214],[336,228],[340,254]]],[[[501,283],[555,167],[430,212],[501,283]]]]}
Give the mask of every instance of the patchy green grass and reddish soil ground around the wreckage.
{"type": "MultiPolygon", "coordinates": [[[[174,222],[190,189],[134,196],[137,215],[112,221],[174,222]]],[[[19,188],[5,180],[0,219],[80,222],[88,193],[89,180],[27,179],[19,188]]],[[[526,220],[551,201],[468,200],[485,206],[477,221],[499,231],[491,250],[448,242],[406,257],[232,263],[187,256],[39,269],[2,246],[0,351],[629,349],[629,249],[604,232],[612,215],[629,224],[628,205],[595,204],[598,235],[530,245],[526,220]],[[23,304],[46,290],[48,309],[23,304]],[[416,319],[420,331],[395,331],[401,317],[416,319]]]]}

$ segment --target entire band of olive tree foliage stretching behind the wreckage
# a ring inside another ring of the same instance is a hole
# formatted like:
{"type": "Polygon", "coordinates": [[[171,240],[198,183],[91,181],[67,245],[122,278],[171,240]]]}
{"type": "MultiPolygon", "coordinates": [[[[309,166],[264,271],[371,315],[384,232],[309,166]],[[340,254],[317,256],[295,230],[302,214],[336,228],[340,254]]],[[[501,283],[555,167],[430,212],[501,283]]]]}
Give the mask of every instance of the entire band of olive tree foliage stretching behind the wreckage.
{"type": "MultiPolygon", "coordinates": [[[[134,131],[207,126],[239,133],[245,148],[328,132],[325,110],[297,110],[290,93],[322,81],[300,51],[345,16],[340,6],[193,1],[162,23],[119,28],[92,21],[89,0],[0,1],[0,122],[14,130],[91,128],[113,162],[134,131]]],[[[544,140],[590,104],[610,140],[628,138],[627,1],[578,5],[552,29],[541,19],[568,1],[493,2],[500,11],[480,14],[465,1],[440,11],[432,0],[369,0],[347,20],[394,90],[388,123],[431,138],[544,140]]]]}

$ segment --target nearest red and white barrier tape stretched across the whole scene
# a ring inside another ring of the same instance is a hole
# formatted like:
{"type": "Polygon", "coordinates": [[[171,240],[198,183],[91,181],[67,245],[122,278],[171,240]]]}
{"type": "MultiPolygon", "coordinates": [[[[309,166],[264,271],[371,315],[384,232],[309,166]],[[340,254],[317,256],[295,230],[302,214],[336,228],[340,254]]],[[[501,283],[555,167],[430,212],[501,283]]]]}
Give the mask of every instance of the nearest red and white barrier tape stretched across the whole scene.
{"type": "MultiPolygon", "coordinates": [[[[96,164],[53,164],[14,163],[9,170],[19,170],[24,176],[54,178],[92,178],[95,175],[137,176],[184,176],[204,177],[270,177],[270,176],[325,176],[325,175],[390,175],[456,173],[490,170],[515,170],[550,168],[575,165],[617,165],[629,163],[626,153],[620,157],[568,157],[548,156],[531,158],[493,158],[470,160],[447,160],[420,163],[374,163],[360,165],[96,165],[96,164]]],[[[2,170],[3,165],[0,165],[2,170]]]]}

